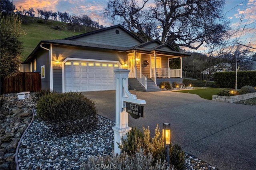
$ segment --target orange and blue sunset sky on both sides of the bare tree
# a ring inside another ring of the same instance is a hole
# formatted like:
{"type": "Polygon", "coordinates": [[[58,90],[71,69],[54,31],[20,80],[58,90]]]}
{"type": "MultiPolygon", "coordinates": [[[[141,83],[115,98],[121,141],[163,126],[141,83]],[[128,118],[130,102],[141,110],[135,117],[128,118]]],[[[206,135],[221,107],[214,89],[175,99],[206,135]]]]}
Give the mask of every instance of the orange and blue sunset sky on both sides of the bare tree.
{"type": "MultiPolygon", "coordinates": [[[[11,0],[11,2],[16,8],[22,6],[26,10],[32,7],[35,11],[37,9],[60,11],[76,16],[86,14],[105,27],[118,24],[112,23],[103,16],[108,0],[11,0]]],[[[234,36],[242,37],[240,43],[256,48],[256,0],[226,0],[224,14],[231,21],[232,29],[238,30],[234,36]]]]}

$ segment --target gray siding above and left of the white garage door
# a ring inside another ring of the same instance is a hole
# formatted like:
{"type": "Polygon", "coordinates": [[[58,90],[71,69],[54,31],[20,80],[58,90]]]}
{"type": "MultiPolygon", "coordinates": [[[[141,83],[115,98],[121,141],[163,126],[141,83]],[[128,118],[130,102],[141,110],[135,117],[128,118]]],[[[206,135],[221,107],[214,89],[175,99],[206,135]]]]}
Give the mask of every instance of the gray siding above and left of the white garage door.
{"type": "Polygon", "coordinates": [[[53,46],[52,55],[54,61],[56,61],[56,56],[60,61],[59,64],[53,62],[53,89],[56,92],[62,92],[62,61],[66,58],[119,61],[122,65],[127,60],[126,53],[67,48],[66,46],[53,46]]]}

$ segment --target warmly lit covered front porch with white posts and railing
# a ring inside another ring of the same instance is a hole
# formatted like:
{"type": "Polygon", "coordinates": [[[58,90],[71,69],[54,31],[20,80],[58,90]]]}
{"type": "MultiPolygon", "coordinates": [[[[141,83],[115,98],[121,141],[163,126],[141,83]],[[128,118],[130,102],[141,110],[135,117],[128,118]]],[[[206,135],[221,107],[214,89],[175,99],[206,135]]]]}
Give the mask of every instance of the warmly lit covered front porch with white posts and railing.
{"type": "Polygon", "coordinates": [[[156,86],[162,81],[182,83],[182,55],[179,55],[155,50],[150,53],[132,51],[127,54],[125,67],[130,70],[129,78],[137,79],[145,90],[148,88],[149,80],[156,86]]]}

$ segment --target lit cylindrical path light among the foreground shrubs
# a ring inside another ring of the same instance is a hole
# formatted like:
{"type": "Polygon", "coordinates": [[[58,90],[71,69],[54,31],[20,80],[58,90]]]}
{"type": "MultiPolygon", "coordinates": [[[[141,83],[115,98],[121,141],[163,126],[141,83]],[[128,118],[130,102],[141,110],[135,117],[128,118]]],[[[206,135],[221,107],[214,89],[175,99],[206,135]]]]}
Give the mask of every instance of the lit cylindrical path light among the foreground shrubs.
{"type": "Polygon", "coordinates": [[[166,148],[166,162],[167,166],[170,165],[170,143],[171,143],[171,124],[163,123],[163,134],[164,134],[164,147],[166,148]]]}

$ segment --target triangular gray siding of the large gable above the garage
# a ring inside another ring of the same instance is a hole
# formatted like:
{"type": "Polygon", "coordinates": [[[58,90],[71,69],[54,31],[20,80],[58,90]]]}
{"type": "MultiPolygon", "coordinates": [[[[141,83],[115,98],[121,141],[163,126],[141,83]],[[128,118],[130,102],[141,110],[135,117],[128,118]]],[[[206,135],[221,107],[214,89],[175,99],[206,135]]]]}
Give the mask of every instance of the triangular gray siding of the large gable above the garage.
{"type": "Polygon", "coordinates": [[[137,39],[135,39],[130,34],[120,28],[109,29],[95,34],[86,35],[84,37],[79,37],[73,40],[86,43],[116,45],[118,47],[133,47],[134,45],[140,44],[137,39]],[[116,34],[116,30],[119,31],[119,34],[116,34]]]}

